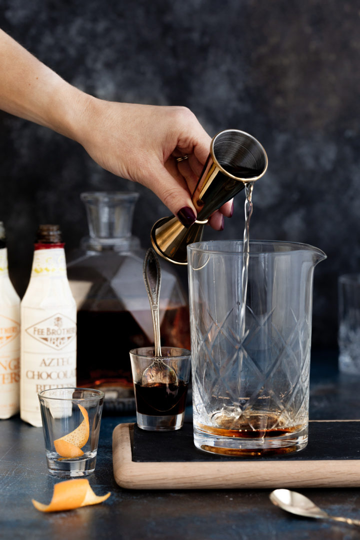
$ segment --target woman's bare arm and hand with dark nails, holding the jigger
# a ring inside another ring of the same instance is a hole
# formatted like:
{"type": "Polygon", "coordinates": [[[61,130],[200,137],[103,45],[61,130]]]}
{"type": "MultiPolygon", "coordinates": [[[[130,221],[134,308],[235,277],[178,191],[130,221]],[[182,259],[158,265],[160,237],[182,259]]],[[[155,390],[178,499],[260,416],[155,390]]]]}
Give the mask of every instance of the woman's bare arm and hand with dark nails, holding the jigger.
{"type": "MultiPolygon", "coordinates": [[[[0,30],[0,109],[77,140],[107,171],[150,188],[184,225],[210,137],[185,107],[106,102],[81,92],[0,30]],[[188,156],[184,161],[177,157],[188,156]]],[[[232,201],[209,222],[223,228],[232,201]]]]}

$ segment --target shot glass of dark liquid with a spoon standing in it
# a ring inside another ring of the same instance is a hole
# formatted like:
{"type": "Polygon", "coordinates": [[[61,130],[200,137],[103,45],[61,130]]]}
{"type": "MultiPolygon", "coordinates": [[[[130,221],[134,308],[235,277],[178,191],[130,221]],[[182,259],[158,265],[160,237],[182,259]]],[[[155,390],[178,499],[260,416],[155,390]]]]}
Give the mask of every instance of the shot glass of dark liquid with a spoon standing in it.
{"type": "Polygon", "coordinates": [[[184,424],[191,352],[179,347],[153,347],[130,351],[136,416],[139,428],[173,431],[184,424]]]}

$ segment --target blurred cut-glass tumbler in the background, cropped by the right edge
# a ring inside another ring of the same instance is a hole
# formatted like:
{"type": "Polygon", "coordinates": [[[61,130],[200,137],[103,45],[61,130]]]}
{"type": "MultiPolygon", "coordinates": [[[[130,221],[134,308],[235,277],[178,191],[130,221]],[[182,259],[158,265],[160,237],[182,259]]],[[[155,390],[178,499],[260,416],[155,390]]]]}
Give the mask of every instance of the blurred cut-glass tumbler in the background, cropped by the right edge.
{"type": "Polygon", "coordinates": [[[339,370],[360,375],[360,274],[338,278],[339,370]]]}

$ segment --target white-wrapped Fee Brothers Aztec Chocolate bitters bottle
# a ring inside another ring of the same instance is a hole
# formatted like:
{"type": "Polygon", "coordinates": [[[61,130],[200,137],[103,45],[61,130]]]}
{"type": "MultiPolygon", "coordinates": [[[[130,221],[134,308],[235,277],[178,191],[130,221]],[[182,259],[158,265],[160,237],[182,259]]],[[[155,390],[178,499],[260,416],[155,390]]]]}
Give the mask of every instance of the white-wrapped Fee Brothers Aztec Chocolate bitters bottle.
{"type": "Polygon", "coordinates": [[[76,386],[76,303],[58,225],[38,228],[21,320],[21,418],[40,427],[38,392],[76,386]]]}

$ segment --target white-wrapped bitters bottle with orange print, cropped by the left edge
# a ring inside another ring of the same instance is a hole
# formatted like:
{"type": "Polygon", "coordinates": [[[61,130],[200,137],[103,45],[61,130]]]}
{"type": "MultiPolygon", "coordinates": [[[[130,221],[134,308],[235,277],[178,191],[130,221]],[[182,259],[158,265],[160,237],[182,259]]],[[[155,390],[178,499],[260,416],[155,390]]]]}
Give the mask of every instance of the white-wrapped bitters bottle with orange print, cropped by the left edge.
{"type": "Polygon", "coordinates": [[[19,411],[20,299],[8,272],[4,224],[0,221],[0,419],[19,411]]]}

